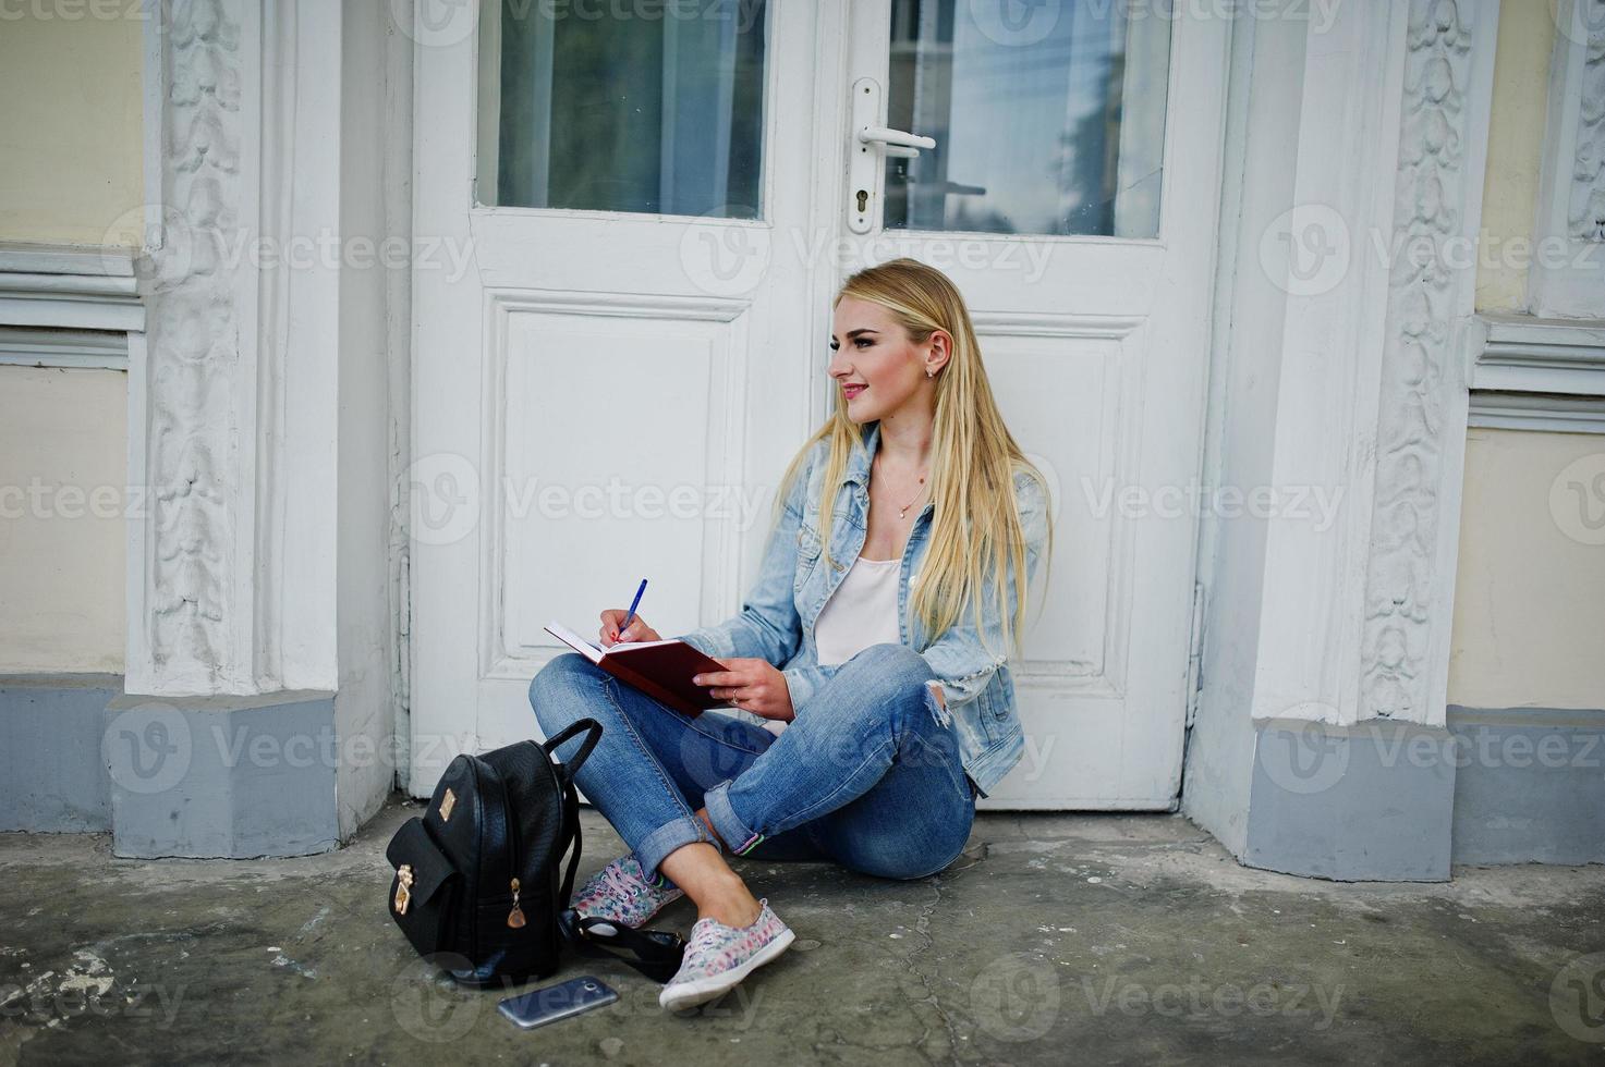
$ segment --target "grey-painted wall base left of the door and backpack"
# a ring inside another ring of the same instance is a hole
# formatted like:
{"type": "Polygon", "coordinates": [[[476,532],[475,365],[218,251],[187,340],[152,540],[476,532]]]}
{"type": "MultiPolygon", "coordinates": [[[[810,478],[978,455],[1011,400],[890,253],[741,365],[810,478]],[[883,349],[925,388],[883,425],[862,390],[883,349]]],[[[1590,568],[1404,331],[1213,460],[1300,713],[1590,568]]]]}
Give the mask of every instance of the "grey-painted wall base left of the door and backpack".
{"type": "Polygon", "coordinates": [[[122,857],[339,846],[334,693],[151,698],[0,679],[0,830],[106,831],[122,857]]]}

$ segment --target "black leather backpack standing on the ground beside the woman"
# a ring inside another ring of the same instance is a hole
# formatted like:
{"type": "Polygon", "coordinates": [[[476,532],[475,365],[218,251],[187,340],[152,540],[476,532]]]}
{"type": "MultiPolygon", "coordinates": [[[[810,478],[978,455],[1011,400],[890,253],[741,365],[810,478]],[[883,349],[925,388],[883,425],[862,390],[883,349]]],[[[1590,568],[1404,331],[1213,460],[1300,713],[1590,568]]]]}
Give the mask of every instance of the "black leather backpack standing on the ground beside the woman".
{"type": "Polygon", "coordinates": [[[429,809],[390,839],[390,918],[457,982],[542,979],[560,966],[581,849],[575,772],[600,738],[599,722],[579,719],[544,743],[457,756],[429,809]],[[554,762],[579,732],[573,759],[554,762]]]}

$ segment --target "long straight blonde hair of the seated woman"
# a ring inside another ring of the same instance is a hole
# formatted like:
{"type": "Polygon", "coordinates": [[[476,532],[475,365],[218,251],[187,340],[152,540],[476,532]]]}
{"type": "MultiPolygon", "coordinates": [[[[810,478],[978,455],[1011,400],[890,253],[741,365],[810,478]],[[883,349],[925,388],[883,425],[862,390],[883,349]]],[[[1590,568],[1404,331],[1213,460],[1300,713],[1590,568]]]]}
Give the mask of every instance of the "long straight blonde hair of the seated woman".
{"type": "MultiPolygon", "coordinates": [[[[915,345],[928,342],[937,329],[947,331],[953,339],[952,356],[936,374],[931,441],[931,499],[936,507],[931,518],[931,547],[920,568],[921,578],[908,610],[924,623],[924,632],[934,643],[958,621],[971,590],[982,587],[982,566],[990,563],[1003,640],[1018,653],[1026,629],[1027,589],[1026,538],[1014,497],[1014,472],[1018,469],[1029,472],[1042,486],[1045,501],[1048,485],[1003,424],[1003,414],[992,398],[985,366],[981,363],[981,345],[976,342],[965,300],[947,274],[910,258],[889,260],[852,274],[831,306],[835,308],[844,297],[878,303],[891,311],[915,345]],[[1008,571],[1005,565],[1010,566],[1008,571]],[[1016,576],[1018,592],[1013,613],[1003,603],[1010,573],[1016,576]]],[[[847,417],[839,385],[830,419],[802,443],[780,477],[775,521],[790,494],[788,486],[801,473],[814,443],[822,440],[830,441],[830,457],[825,462],[820,491],[819,526],[823,541],[820,566],[830,566],[830,528],[836,491],[846,475],[854,441],[862,440],[862,428],[847,417]]],[[[1051,568],[1051,512],[1045,552],[1051,568]]],[[[976,631],[990,650],[981,618],[981,597],[976,595],[976,631]]]]}

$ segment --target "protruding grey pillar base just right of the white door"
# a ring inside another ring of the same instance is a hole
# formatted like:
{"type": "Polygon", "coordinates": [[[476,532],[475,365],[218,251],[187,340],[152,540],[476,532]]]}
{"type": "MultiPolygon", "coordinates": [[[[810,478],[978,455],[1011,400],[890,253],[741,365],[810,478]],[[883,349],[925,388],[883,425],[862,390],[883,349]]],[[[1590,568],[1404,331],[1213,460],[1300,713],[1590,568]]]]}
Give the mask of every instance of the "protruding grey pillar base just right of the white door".
{"type": "Polygon", "coordinates": [[[1448,730],[1392,720],[1257,727],[1242,862],[1339,881],[1449,878],[1448,730]]]}

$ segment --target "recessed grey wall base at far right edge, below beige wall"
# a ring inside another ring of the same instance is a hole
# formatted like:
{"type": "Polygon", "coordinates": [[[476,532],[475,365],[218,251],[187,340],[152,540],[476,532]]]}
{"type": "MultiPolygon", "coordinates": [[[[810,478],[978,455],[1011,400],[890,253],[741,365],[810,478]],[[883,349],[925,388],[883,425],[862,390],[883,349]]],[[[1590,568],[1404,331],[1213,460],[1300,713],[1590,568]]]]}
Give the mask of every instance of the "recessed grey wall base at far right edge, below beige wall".
{"type": "Polygon", "coordinates": [[[1451,704],[1446,722],[1456,863],[1605,863],[1605,711],[1451,704]]]}

